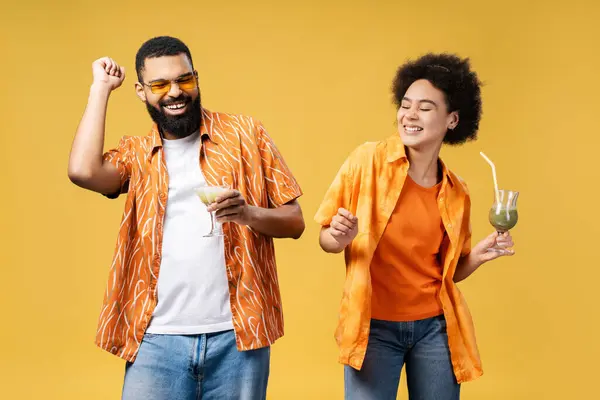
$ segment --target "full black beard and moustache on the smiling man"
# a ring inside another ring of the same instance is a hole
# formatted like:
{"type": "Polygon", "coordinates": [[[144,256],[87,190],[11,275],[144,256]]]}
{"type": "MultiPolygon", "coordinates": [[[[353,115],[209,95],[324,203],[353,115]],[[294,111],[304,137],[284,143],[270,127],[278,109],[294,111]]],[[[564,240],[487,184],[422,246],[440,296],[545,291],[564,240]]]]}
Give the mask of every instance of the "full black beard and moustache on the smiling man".
{"type": "Polygon", "coordinates": [[[181,96],[176,99],[160,101],[158,103],[158,109],[146,101],[148,113],[156,125],[158,125],[158,129],[162,134],[168,132],[177,138],[184,138],[200,129],[200,126],[202,125],[200,93],[198,93],[196,100],[189,104],[189,109],[184,114],[168,115],[164,112],[163,106],[181,101],[189,103],[190,97],[182,93],[181,96]]]}

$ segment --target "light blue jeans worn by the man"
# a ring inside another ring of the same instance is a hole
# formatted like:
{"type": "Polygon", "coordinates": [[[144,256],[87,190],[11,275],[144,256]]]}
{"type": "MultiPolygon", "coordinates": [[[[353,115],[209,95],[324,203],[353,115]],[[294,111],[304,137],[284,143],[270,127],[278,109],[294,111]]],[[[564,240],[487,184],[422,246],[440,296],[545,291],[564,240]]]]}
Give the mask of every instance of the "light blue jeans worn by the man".
{"type": "Polygon", "coordinates": [[[270,348],[238,351],[232,330],[146,334],[127,363],[123,400],[266,399],[270,348]]]}

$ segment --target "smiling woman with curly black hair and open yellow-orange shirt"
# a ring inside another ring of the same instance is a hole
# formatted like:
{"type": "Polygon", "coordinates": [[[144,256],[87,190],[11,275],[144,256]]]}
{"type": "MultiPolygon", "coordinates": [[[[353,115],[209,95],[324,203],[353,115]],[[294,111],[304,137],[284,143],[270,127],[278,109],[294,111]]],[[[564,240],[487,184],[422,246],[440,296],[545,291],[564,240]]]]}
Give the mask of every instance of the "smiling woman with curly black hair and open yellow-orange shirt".
{"type": "Polygon", "coordinates": [[[476,138],[480,85],[455,55],[401,66],[398,134],[354,150],[315,216],[321,248],[346,251],[336,331],[346,399],[395,399],[404,364],[411,399],[459,399],[482,374],[456,282],[512,255],[513,241],[492,233],[471,248],[466,185],[439,158],[442,144],[476,138]]]}

